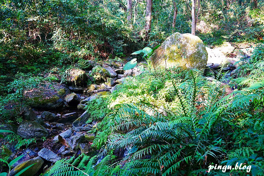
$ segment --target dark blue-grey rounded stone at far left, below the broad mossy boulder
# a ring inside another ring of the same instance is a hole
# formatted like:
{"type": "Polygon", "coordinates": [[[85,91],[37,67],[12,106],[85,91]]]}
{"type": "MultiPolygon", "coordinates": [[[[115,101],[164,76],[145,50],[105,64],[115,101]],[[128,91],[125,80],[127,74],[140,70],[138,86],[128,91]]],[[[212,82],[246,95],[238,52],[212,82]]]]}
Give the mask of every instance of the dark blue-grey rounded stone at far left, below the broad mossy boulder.
{"type": "Polygon", "coordinates": [[[17,129],[17,134],[25,139],[48,137],[48,131],[36,122],[23,121],[17,129]]]}

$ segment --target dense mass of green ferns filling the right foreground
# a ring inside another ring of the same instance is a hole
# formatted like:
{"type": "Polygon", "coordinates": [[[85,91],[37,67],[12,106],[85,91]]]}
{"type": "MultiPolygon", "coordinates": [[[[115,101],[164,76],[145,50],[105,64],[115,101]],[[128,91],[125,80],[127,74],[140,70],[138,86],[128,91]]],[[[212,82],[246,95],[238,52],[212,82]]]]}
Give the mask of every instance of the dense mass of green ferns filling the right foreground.
{"type": "Polygon", "coordinates": [[[101,121],[93,131],[93,146],[100,149],[99,158],[106,156],[104,162],[91,169],[82,162],[94,158],[63,160],[49,175],[68,175],[73,167],[67,163],[78,168],[73,175],[204,175],[209,165],[237,162],[252,165],[252,175],[262,175],[262,52],[260,45],[249,62],[241,63],[243,77],[237,79],[225,76],[225,65],[213,82],[205,79],[203,70],[179,68],[148,70],[126,79],[117,91],[87,104],[93,111],[91,121],[101,121]],[[228,92],[225,79],[237,88],[228,92]]]}

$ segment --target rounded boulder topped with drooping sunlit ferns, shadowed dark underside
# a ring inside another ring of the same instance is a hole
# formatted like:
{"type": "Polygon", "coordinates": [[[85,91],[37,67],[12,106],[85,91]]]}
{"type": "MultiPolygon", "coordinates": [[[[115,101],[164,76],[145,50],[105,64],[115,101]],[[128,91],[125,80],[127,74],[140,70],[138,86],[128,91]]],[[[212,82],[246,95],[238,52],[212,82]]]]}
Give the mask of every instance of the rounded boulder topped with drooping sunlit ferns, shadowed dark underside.
{"type": "Polygon", "coordinates": [[[66,82],[68,85],[74,85],[74,86],[85,86],[87,85],[87,74],[85,71],[78,69],[78,68],[72,68],[69,70],[66,70],[66,82]]]}

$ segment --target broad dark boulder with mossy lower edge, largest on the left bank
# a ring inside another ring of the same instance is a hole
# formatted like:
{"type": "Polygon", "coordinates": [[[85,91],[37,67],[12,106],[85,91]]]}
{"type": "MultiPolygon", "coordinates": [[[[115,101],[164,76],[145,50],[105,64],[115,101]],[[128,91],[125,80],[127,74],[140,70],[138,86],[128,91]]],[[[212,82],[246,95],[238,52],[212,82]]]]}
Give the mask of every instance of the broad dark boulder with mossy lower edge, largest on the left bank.
{"type": "Polygon", "coordinates": [[[49,83],[40,85],[25,92],[31,107],[56,109],[65,106],[63,99],[70,91],[59,83],[49,83]]]}

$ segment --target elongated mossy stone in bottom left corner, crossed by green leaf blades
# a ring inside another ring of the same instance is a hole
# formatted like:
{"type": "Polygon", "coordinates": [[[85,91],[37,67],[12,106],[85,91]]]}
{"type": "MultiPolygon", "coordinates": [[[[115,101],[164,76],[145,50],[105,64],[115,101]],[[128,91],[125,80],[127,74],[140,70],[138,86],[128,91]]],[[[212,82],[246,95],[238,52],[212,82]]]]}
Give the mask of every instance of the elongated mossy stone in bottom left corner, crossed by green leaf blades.
{"type": "Polygon", "coordinates": [[[41,169],[42,165],[44,164],[44,160],[38,156],[36,158],[23,161],[22,163],[18,164],[16,167],[14,167],[11,170],[10,176],[17,174],[18,172],[20,172],[21,170],[30,166],[31,164],[34,164],[34,165],[31,166],[29,169],[27,169],[25,172],[23,172],[20,176],[34,176],[34,175],[36,175],[39,172],[39,170],[41,169]]]}

